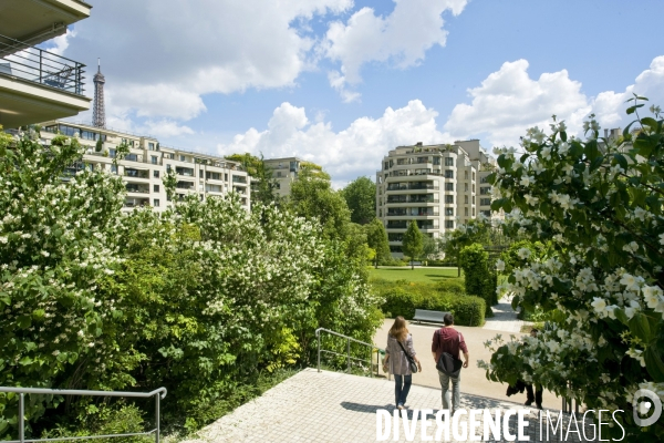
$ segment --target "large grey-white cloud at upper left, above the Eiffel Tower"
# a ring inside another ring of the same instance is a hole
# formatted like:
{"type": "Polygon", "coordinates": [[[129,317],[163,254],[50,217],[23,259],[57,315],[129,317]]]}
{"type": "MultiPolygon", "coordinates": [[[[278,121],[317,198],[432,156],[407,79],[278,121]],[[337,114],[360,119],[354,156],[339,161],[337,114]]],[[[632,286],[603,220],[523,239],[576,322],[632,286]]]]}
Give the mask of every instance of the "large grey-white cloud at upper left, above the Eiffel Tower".
{"type": "MultiPolygon", "coordinates": [[[[64,40],[68,56],[102,58],[117,110],[188,120],[201,96],[289,87],[312,68],[308,22],[352,0],[114,0],[95,4],[64,40]]],[[[96,60],[95,60],[96,61],[96,60]]]]}

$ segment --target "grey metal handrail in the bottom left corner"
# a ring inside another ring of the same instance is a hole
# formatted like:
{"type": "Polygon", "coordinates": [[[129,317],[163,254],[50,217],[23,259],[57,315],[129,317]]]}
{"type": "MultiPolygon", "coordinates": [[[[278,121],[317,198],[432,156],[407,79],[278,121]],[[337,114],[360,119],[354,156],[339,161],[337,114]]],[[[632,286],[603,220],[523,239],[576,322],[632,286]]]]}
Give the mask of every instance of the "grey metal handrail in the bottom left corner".
{"type": "Polygon", "coordinates": [[[32,443],[32,442],[62,442],[83,439],[110,439],[115,436],[134,436],[155,434],[155,442],[159,443],[160,439],[160,399],[166,398],[166,388],[155,389],[151,392],[123,392],[123,391],[87,391],[76,389],[42,389],[42,388],[8,388],[0,387],[0,392],[13,392],[19,394],[19,440],[10,440],[6,443],[32,443]],[[128,434],[108,434],[108,435],[92,435],[92,436],[65,436],[59,439],[30,439],[25,440],[25,394],[51,394],[51,395],[94,395],[94,396],[133,396],[147,399],[155,398],[155,425],[156,427],[146,432],[135,432],[128,434]]]}

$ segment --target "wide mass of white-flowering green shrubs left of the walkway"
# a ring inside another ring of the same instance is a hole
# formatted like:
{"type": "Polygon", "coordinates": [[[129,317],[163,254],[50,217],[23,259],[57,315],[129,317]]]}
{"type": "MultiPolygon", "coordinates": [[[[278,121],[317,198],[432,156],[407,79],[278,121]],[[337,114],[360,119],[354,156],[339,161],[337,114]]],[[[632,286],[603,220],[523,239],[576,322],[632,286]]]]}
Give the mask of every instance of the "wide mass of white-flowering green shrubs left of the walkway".
{"type": "MultiPolygon", "coordinates": [[[[123,215],[122,178],[66,175],[77,140],[38,138],[0,136],[1,385],[164,385],[165,414],[195,429],[261,373],[307,364],[315,328],[373,337],[380,299],[347,217],[345,238],[326,237],[274,205],[248,213],[235,194],[123,215]]],[[[29,396],[28,434],[72,414],[102,420],[92,406],[29,396]]],[[[17,410],[0,395],[0,437],[15,434],[17,410]]]]}

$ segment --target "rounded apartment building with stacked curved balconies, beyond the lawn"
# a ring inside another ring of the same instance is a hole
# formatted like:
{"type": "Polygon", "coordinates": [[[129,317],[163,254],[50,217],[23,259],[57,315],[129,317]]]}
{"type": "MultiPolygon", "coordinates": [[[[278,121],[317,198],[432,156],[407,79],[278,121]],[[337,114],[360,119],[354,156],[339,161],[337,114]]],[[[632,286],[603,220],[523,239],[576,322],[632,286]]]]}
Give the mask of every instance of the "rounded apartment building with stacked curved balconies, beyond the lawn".
{"type": "Polygon", "coordinates": [[[487,176],[496,159],[478,140],[454,144],[398,146],[383,157],[376,173],[376,216],[395,256],[411,220],[430,237],[440,237],[479,214],[491,213],[487,176]]]}

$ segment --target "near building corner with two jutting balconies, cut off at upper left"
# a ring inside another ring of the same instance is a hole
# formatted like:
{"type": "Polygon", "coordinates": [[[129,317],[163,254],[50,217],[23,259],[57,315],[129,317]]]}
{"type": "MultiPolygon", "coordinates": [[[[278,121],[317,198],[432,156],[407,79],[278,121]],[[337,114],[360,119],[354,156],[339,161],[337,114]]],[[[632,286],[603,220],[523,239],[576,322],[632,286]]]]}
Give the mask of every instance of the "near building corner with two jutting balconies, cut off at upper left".
{"type": "Polygon", "coordinates": [[[90,109],[85,65],[37,48],[90,17],[80,0],[0,1],[0,125],[64,119],[90,109]]]}

